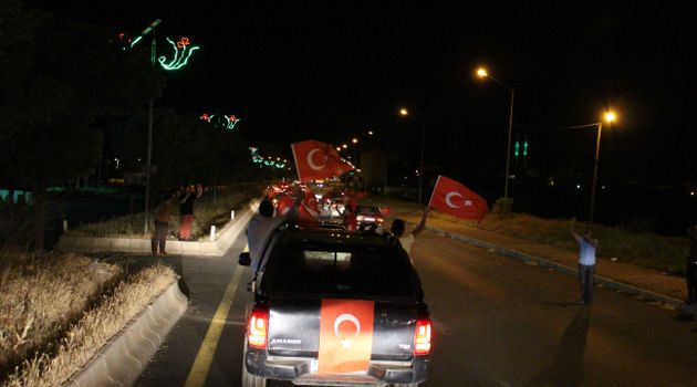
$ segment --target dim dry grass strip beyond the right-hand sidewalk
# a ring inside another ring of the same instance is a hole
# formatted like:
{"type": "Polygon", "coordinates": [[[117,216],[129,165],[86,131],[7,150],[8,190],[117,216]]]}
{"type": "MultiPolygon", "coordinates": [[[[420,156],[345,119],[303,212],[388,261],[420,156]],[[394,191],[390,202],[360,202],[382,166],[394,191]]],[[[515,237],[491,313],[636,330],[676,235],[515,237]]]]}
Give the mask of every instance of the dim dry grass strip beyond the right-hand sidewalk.
{"type": "MultiPolygon", "coordinates": [[[[381,200],[376,198],[375,200],[381,200]]],[[[423,207],[403,200],[388,199],[394,213],[420,216],[423,207]]],[[[444,219],[472,229],[482,229],[501,234],[552,244],[572,251],[578,244],[569,233],[570,219],[542,219],[526,213],[513,213],[510,218],[499,218],[489,213],[481,224],[457,219],[433,211],[430,218],[444,219]]],[[[582,223],[576,226],[583,230],[582,223]]],[[[622,228],[593,226],[593,234],[600,241],[597,254],[601,258],[617,258],[622,262],[658,270],[668,274],[683,274],[685,257],[689,249],[687,238],[663,237],[648,232],[632,232],[622,228]]]]}

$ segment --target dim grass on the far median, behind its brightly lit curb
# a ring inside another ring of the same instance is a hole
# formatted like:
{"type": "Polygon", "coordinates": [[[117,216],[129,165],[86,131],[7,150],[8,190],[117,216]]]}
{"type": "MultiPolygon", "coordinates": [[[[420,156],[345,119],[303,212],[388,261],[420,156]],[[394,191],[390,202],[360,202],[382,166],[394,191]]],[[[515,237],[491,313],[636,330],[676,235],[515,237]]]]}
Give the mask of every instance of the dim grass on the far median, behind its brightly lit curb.
{"type": "MultiPolygon", "coordinates": [[[[259,195],[259,190],[256,188],[245,188],[235,192],[219,195],[215,202],[211,196],[201,197],[195,205],[193,238],[199,239],[207,236],[210,226],[222,227],[230,220],[231,210],[239,210],[247,201],[259,195]]],[[[178,213],[178,209],[175,206],[169,219],[170,239],[175,239],[176,230],[179,228],[178,213]]],[[[80,224],[77,228],[69,230],[66,234],[97,238],[143,238],[143,213],[136,213],[98,223],[80,224]]]]}

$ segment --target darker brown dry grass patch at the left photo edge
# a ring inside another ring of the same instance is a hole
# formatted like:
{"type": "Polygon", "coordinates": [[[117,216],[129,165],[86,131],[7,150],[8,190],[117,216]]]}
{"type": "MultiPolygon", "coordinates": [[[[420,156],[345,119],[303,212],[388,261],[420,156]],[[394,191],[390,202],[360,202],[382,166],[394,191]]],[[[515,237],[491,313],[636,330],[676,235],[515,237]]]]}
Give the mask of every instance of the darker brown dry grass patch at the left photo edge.
{"type": "Polygon", "coordinates": [[[4,254],[0,271],[0,375],[51,343],[122,275],[85,257],[4,254]]]}

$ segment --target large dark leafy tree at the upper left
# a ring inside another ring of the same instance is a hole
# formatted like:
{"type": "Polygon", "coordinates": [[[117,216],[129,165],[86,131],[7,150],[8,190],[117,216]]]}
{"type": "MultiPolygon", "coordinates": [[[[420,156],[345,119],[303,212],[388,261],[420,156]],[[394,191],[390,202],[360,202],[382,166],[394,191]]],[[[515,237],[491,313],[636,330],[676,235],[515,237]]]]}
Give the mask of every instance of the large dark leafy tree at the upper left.
{"type": "Polygon", "coordinates": [[[89,174],[100,159],[94,119],[141,108],[162,82],[144,53],[117,50],[104,29],[17,0],[1,0],[0,12],[0,71],[9,71],[0,86],[0,177],[33,192],[42,251],[46,187],[89,174]]]}

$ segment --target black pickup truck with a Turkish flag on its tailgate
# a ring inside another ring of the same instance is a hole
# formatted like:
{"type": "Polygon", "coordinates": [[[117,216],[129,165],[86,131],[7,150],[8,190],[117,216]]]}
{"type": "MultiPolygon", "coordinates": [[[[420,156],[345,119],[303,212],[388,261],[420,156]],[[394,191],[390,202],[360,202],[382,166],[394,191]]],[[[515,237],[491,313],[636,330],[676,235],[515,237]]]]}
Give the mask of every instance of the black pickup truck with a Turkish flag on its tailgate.
{"type": "Polygon", "coordinates": [[[391,236],[284,226],[249,290],[245,387],[417,386],[428,376],[428,306],[391,236]]]}

